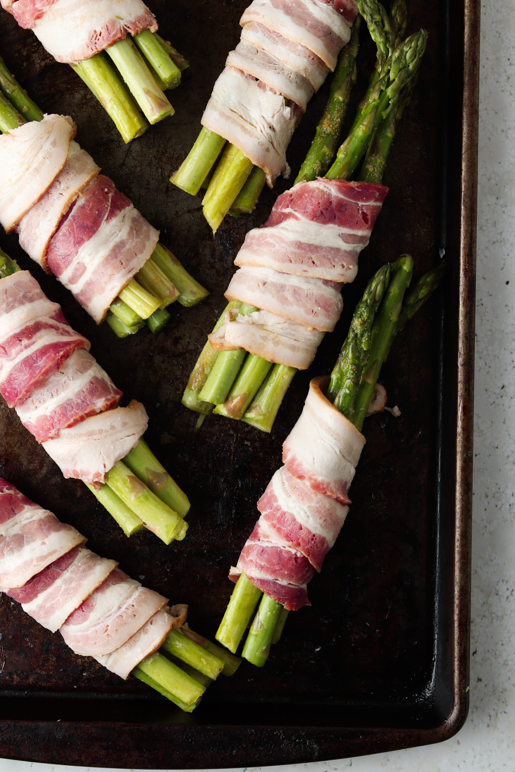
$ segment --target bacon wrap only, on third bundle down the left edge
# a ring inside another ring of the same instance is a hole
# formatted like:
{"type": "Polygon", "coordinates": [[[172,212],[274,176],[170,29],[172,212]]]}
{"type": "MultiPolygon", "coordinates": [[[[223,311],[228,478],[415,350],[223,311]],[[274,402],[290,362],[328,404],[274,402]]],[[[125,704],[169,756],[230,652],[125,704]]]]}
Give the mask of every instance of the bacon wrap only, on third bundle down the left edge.
{"type": "Polygon", "coordinates": [[[98,485],[148,418],[136,401],[117,408],[123,394],[89,349],[28,271],[0,279],[0,394],[65,477],[98,485]]]}

